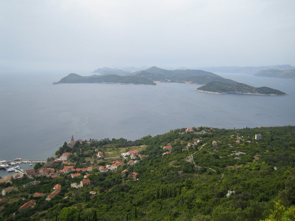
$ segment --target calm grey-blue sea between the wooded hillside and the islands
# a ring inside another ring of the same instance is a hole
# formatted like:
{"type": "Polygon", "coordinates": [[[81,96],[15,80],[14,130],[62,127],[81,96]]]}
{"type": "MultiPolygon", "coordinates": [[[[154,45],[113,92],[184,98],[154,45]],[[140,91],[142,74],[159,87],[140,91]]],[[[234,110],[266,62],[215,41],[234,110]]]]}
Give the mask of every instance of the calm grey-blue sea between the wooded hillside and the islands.
{"type": "Polygon", "coordinates": [[[179,83],[52,85],[68,73],[2,72],[0,160],[47,159],[72,135],[136,140],[185,127],[295,125],[295,80],[216,74],[289,96],[201,93],[179,83]]]}

